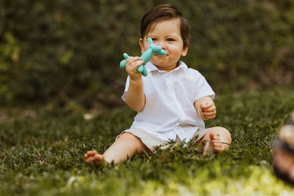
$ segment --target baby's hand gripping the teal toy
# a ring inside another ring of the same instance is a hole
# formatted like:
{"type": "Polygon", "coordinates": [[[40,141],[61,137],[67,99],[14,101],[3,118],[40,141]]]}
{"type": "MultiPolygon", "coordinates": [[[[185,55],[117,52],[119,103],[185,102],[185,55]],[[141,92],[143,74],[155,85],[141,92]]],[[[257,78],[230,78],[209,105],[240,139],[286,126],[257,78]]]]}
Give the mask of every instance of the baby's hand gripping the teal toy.
{"type": "Polygon", "coordinates": [[[131,80],[141,79],[142,74],[137,71],[138,67],[144,62],[141,57],[129,57],[127,59],[126,71],[129,74],[131,80]]]}

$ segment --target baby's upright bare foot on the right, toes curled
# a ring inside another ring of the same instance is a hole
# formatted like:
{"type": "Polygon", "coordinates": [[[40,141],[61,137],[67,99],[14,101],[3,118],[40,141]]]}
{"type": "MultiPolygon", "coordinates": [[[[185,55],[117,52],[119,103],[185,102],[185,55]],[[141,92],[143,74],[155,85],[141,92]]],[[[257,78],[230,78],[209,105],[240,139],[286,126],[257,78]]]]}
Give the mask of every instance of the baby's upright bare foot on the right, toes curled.
{"type": "Polygon", "coordinates": [[[210,156],[211,154],[220,154],[224,150],[228,149],[228,144],[224,144],[220,141],[218,134],[211,132],[209,134],[210,141],[206,142],[204,146],[204,153],[202,156],[210,156]]]}

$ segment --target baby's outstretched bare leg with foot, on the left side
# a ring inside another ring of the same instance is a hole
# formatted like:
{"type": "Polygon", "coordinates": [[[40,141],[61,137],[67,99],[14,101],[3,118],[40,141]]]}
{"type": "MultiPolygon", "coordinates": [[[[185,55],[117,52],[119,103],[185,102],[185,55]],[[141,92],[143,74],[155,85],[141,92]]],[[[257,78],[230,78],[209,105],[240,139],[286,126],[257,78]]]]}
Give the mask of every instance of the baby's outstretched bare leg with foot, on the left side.
{"type": "Polygon", "coordinates": [[[142,154],[143,149],[150,152],[139,137],[124,132],[104,154],[98,154],[97,151],[88,151],[84,158],[90,166],[100,166],[102,163],[112,163],[112,161],[117,164],[121,161],[127,161],[127,158],[133,157],[135,153],[142,154]]]}

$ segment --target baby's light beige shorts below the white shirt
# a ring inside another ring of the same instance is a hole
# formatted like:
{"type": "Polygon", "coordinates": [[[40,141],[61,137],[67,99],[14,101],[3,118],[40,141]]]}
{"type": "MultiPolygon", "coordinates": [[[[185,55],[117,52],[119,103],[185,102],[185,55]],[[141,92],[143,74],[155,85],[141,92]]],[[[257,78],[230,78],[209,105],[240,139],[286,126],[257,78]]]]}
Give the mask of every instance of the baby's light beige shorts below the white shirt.
{"type": "MultiPolygon", "coordinates": [[[[202,137],[204,137],[204,135],[212,128],[208,128],[208,129],[199,129],[195,134],[193,138],[196,138],[196,141],[201,139],[202,137]]],[[[143,142],[143,144],[145,144],[148,149],[150,149],[150,151],[155,151],[156,149],[167,149],[169,147],[171,147],[171,145],[179,145],[182,143],[182,141],[180,140],[179,137],[177,137],[175,139],[174,142],[167,142],[163,139],[160,139],[159,137],[156,137],[155,135],[148,133],[146,131],[143,131],[142,129],[127,129],[124,130],[124,132],[129,132],[131,134],[133,134],[136,137],[139,137],[139,139],[141,139],[141,142],[143,142]]],[[[119,134],[119,136],[121,136],[124,132],[122,132],[121,134],[119,134]]],[[[117,138],[119,137],[117,136],[117,138]]],[[[196,142],[195,141],[195,142],[196,142]]]]}

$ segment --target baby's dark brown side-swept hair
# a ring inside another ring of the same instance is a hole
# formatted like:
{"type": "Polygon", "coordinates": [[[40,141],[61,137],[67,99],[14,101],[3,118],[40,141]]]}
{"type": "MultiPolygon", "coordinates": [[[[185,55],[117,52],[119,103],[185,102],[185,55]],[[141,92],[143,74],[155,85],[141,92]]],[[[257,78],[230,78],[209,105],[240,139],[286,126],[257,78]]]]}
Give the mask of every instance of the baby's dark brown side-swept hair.
{"type": "Polygon", "coordinates": [[[171,4],[163,4],[152,8],[151,11],[146,13],[141,21],[141,38],[153,28],[157,23],[161,21],[171,20],[173,18],[178,18],[180,21],[180,33],[183,40],[183,49],[189,47],[189,27],[187,19],[182,16],[182,13],[171,4]]]}

